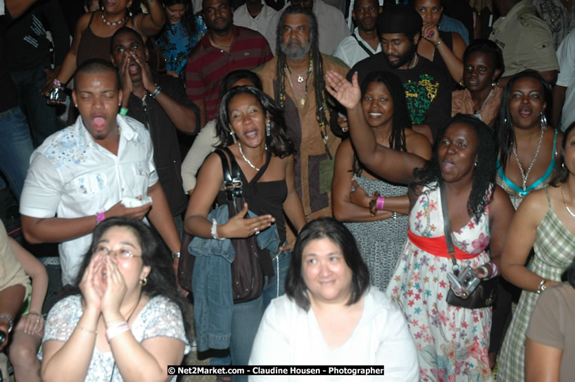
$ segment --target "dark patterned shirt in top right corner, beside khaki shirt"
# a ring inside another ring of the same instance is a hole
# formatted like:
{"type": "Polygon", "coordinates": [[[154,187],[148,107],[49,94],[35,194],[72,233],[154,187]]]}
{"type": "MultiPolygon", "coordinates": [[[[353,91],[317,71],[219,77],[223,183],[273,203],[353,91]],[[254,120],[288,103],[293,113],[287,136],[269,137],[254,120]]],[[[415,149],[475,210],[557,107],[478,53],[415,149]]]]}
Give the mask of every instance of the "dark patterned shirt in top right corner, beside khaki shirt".
{"type": "Polygon", "coordinates": [[[547,23],[553,34],[553,43],[558,49],[563,38],[575,27],[575,6],[568,11],[560,0],[532,0],[537,13],[547,23]]]}

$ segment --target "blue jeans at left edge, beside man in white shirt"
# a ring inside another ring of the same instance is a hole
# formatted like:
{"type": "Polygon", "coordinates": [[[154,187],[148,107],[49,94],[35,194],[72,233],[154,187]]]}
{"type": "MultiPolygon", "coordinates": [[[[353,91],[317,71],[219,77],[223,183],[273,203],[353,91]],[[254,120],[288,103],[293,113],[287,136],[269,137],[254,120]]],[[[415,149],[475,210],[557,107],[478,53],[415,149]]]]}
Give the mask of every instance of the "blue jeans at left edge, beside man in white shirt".
{"type": "Polygon", "coordinates": [[[0,113],[0,170],[17,201],[20,201],[32,150],[30,130],[20,108],[16,106],[0,113]]]}

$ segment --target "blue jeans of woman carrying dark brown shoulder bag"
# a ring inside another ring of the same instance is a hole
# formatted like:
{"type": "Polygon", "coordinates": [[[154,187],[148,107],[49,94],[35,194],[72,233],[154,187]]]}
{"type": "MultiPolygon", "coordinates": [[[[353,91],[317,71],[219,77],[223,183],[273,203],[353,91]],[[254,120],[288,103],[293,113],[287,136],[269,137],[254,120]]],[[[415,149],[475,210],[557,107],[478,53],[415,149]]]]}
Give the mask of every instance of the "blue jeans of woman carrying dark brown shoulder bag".
{"type": "MultiPolygon", "coordinates": [[[[274,258],[275,276],[267,280],[263,292],[257,299],[234,304],[232,315],[232,339],[230,342],[230,355],[232,365],[247,365],[252,352],[252,344],[256,337],[261,317],[265,308],[272,299],[285,293],[285,276],[290,267],[292,254],[290,251],[281,252],[274,258]]],[[[232,381],[248,381],[248,376],[234,375],[232,381]]]]}

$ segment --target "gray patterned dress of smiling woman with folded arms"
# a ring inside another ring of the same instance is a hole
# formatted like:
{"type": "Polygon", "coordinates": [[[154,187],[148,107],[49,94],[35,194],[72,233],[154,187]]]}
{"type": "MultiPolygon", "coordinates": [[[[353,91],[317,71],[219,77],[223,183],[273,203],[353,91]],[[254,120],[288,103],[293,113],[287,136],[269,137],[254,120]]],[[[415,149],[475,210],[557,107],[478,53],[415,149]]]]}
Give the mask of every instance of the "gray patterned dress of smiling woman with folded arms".
{"type": "MultiPolygon", "coordinates": [[[[374,191],[379,192],[381,196],[407,194],[405,186],[396,186],[386,181],[362,177],[357,171],[354,171],[354,174],[360,187],[370,195],[374,191]]],[[[407,215],[383,221],[344,224],[358,242],[361,256],[369,268],[371,285],[375,285],[384,292],[393,276],[395,265],[398,263],[407,238],[407,215]]]]}

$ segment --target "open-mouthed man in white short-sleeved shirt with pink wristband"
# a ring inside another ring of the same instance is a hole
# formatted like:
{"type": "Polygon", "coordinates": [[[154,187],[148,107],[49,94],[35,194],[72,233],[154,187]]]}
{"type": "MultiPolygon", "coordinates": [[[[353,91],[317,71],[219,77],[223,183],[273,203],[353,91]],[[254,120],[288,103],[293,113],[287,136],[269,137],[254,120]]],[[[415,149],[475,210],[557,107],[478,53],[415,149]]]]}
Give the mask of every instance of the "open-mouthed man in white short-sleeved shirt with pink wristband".
{"type": "Polygon", "coordinates": [[[26,240],[60,242],[63,285],[74,284],[91,232],[111,216],[148,215],[171,251],[180,251],[150,134],[140,122],[118,115],[118,72],[104,60],[88,60],[74,84],[80,117],[34,150],[20,201],[26,240]]]}

